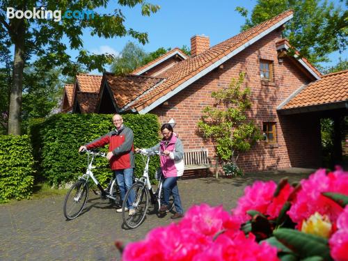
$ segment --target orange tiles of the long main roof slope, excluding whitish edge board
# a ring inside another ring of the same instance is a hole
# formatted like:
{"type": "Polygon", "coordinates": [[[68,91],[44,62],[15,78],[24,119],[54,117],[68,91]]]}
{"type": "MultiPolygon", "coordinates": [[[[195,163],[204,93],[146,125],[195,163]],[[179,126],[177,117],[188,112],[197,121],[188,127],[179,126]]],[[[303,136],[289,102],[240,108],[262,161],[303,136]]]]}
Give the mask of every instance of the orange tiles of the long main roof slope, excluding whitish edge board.
{"type": "Polygon", "coordinates": [[[150,106],[150,104],[156,102],[160,97],[163,97],[171,90],[177,88],[177,86],[180,86],[180,84],[183,84],[199,72],[202,72],[209,65],[219,61],[221,58],[235,51],[238,47],[242,47],[242,45],[246,44],[249,40],[252,40],[272,26],[282,22],[284,19],[292,17],[292,15],[293,11],[287,10],[262,24],[253,26],[251,29],[207,49],[207,51],[198,56],[177,63],[163,74],[159,74],[159,77],[166,77],[166,81],[164,81],[163,84],[143,95],[143,97],[137,100],[132,106],[134,106],[137,111],[141,111],[141,109],[150,106]]]}

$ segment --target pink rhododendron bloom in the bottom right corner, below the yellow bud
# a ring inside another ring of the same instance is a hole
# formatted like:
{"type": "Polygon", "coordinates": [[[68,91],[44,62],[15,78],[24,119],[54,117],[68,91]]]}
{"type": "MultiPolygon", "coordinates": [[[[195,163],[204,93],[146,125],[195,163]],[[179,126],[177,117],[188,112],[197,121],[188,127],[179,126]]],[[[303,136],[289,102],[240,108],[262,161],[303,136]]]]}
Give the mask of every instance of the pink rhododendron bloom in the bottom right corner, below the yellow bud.
{"type": "Polygon", "coordinates": [[[331,256],[335,261],[348,261],[348,206],[338,216],[338,231],[329,240],[331,256]]]}

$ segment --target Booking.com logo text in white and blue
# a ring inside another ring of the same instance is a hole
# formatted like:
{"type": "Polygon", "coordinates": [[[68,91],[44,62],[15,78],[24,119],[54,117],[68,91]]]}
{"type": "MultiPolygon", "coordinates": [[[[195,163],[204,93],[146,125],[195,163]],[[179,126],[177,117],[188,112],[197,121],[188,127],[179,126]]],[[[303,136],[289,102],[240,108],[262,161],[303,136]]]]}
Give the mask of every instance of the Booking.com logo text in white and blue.
{"type": "Polygon", "coordinates": [[[93,19],[94,11],[93,10],[66,10],[62,16],[61,10],[45,10],[45,8],[35,7],[33,10],[15,10],[13,7],[8,7],[6,12],[6,17],[8,19],[54,19],[54,22],[61,21],[62,18],[67,19],[93,19]]]}

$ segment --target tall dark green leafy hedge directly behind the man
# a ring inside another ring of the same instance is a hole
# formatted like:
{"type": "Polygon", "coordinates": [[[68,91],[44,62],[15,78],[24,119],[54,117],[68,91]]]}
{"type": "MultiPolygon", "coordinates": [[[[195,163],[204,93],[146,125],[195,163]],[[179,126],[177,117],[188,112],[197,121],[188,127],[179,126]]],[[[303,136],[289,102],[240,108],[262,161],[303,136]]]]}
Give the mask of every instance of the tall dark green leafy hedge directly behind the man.
{"type": "MultiPolygon", "coordinates": [[[[40,159],[40,173],[55,186],[77,180],[82,172],[86,171],[86,155],[77,151],[93,139],[109,132],[112,128],[112,115],[104,114],[56,114],[37,125],[32,125],[33,147],[35,155],[40,159]],[[39,135],[40,137],[35,137],[39,135]]],[[[124,124],[133,129],[134,146],[148,148],[159,141],[158,118],[152,114],[123,116],[124,124]]],[[[102,149],[107,152],[108,148],[102,149]]],[[[96,166],[109,166],[107,159],[98,157],[96,166]]],[[[159,166],[159,159],[152,159],[150,174],[155,173],[159,166]]],[[[143,161],[136,155],[136,176],[142,175],[143,161]]],[[[97,179],[104,183],[111,176],[109,168],[93,170],[97,179]]],[[[151,176],[151,178],[153,178],[151,176]]]]}

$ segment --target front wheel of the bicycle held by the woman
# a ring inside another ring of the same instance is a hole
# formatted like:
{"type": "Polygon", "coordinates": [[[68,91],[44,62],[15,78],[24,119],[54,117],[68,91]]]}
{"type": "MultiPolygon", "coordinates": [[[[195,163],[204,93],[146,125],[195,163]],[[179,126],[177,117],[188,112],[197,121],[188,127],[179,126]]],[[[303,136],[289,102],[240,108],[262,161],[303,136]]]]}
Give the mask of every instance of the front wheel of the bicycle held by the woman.
{"type": "Polygon", "coordinates": [[[148,189],[142,182],[136,182],[127,191],[122,204],[123,223],[128,228],[136,228],[145,219],[148,210],[148,189]],[[127,202],[132,203],[134,214],[127,210],[127,202]]]}

